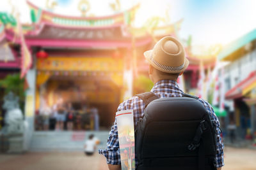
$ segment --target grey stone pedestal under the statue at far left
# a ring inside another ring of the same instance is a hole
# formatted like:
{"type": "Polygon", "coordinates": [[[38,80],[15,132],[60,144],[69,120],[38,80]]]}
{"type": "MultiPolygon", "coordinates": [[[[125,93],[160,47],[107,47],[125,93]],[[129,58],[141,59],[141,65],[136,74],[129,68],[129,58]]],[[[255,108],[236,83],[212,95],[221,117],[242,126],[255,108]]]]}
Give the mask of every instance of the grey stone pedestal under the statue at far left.
{"type": "Polygon", "coordinates": [[[24,140],[23,140],[23,135],[22,134],[8,136],[8,141],[9,141],[8,153],[22,153],[22,152],[24,152],[24,148],[23,148],[24,140]]]}

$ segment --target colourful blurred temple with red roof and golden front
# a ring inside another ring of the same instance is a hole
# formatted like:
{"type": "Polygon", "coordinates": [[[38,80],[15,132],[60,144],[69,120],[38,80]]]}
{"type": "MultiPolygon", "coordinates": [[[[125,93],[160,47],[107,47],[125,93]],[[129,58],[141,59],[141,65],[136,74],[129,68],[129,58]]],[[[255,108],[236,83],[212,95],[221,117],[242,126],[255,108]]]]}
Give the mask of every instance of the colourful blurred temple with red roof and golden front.
{"type": "MultiPolygon", "coordinates": [[[[97,108],[100,127],[109,127],[118,104],[134,94],[135,78],[147,76],[143,52],[163,36],[177,36],[182,24],[179,20],[152,32],[132,28],[139,5],[106,17],[58,15],[29,1],[28,6],[32,24],[23,24],[22,34],[32,56],[26,74],[29,89],[25,108],[26,117],[32,121],[40,108],[52,107],[63,99],[76,110],[83,110],[83,106],[97,108]]],[[[17,23],[1,23],[0,50],[1,74],[20,71],[17,23]]],[[[188,46],[186,52],[190,64],[184,78],[189,92],[196,89],[201,59],[188,46]]],[[[203,60],[205,71],[214,67],[215,57],[203,60]]]]}

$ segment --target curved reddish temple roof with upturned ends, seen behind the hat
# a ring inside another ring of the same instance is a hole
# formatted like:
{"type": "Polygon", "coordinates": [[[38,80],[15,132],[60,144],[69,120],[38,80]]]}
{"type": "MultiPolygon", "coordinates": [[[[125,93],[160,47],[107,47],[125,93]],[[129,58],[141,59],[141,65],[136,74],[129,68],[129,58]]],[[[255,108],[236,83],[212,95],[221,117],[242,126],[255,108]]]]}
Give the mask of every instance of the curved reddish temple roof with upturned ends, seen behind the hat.
{"type": "MultiPolygon", "coordinates": [[[[22,24],[22,31],[28,46],[132,48],[132,36],[134,36],[136,47],[150,48],[150,45],[154,45],[153,37],[175,36],[175,32],[179,31],[183,21],[181,19],[173,24],[154,27],[152,34],[149,34],[147,27],[134,28],[129,25],[138,5],[106,17],[70,17],[42,10],[29,1],[27,3],[31,10],[33,24],[22,24]]],[[[19,44],[19,33],[17,24],[4,27],[0,22],[0,41],[6,39],[19,44]]],[[[205,66],[215,63],[214,57],[203,60],[205,66]]],[[[189,54],[189,61],[190,67],[198,69],[200,59],[189,54]]]]}

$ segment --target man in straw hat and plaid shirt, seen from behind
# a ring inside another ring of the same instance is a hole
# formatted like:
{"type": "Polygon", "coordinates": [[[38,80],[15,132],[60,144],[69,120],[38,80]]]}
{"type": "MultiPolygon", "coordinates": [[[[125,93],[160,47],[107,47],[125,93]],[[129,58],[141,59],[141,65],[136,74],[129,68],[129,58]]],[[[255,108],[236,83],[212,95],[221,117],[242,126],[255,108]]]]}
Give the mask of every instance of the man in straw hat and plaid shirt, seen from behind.
{"type": "MultiPolygon", "coordinates": [[[[177,85],[177,78],[181,75],[189,61],[185,57],[184,47],[177,39],[166,36],[160,39],[153,50],[144,53],[145,58],[150,64],[148,74],[150,80],[154,82],[154,87],[151,92],[154,92],[158,97],[181,97],[184,92],[177,85]]],[[[211,116],[214,125],[217,127],[220,134],[220,122],[216,117],[211,105],[203,99],[198,99],[204,104],[206,110],[211,116]]],[[[131,97],[124,103],[118,106],[118,111],[133,110],[134,113],[134,129],[138,124],[139,119],[143,116],[145,103],[139,97],[131,97]]],[[[224,166],[223,163],[223,143],[220,135],[217,136],[217,152],[216,152],[216,167],[218,170],[224,166]]],[[[109,132],[108,148],[99,150],[99,153],[107,158],[108,167],[111,170],[121,169],[120,149],[118,143],[118,131],[116,122],[109,132]]]]}

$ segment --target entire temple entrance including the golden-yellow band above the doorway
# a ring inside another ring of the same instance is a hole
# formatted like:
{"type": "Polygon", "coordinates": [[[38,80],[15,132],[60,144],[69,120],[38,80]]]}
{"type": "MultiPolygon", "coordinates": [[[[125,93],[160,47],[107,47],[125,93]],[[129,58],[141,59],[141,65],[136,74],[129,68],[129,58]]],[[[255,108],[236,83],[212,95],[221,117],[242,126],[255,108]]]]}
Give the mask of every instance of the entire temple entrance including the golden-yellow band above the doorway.
{"type": "Polygon", "coordinates": [[[125,95],[123,59],[92,50],[51,53],[36,60],[35,130],[109,129],[125,95]]]}

